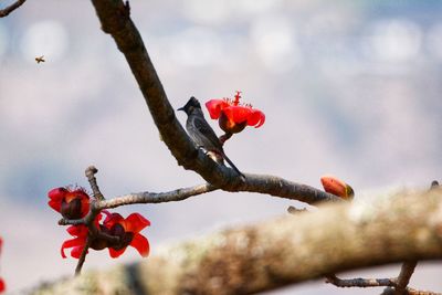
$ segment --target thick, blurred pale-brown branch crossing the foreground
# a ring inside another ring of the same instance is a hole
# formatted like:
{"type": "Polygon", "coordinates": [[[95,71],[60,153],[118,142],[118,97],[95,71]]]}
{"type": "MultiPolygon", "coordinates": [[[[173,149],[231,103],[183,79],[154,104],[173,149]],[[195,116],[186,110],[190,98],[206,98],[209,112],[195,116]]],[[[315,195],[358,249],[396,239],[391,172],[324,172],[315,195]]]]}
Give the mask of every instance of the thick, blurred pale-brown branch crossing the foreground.
{"type": "Polygon", "coordinates": [[[46,288],[130,293],[137,285],[137,294],[251,294],[340,271],[434,259],[442,259],[440,189],[327,204],[309,214],[227,230],[158,250],[137,265],[85,273],[81,282],[46,288]]]}

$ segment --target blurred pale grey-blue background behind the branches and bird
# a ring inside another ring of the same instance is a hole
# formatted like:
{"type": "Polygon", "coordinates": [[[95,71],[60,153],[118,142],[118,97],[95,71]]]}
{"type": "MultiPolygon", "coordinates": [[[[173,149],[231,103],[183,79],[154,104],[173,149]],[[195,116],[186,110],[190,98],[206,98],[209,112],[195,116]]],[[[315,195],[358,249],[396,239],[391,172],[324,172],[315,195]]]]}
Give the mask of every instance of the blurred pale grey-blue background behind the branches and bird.
{"type": "MultiPolygon", "coordinates": [[[[1,7],[11,3],[1,1],[1,7]]],[[[320,187],[334,173],[356,198],[442,180],[442,2],[327,0],[130,1],[131,17],[173,107],[232,97],[266,115],[225,146],[241,171],[320,187]]],[[[185,114],[177,114],[181,123],[185,114]]],[[[220,133],[215,122],[214,129],[220,133]]],[[[18,293],[72,275],[70,239],[46,192],[87,187],[107,198],[202,183],[160,141],[138,86],[90,1],[28,1],[0,19],[0,275],[18,293]],[[34,59],[44,55],[45,62],[34,59]]],[[[211,192],[118,209],[151,221],[159,244],[285,214],[294,204],[211,192]]],[[[85,268],[139,261],[91,251],[85,268]]],[[[441,291],[441,263],[419,263],[411,286],[441,291]]],[[[348,277],[398,275],[400,265],[348,277]]],[[[267,294],[379,294],[324,280],[267,294]]]]}

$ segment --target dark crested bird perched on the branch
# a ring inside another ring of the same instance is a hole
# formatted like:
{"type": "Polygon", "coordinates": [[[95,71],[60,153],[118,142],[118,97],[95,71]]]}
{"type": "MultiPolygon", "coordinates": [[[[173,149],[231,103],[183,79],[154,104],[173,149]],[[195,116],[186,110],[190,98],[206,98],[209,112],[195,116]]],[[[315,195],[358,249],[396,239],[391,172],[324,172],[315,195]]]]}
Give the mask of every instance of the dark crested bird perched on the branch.
{"type": "Polygon", "coordinates": [[[177,110],[183,110],[187,114],[186,129],[198,148],[204,149],[207,154],[214,154],[215,161],[217,156],[218,158],[221,157],[221,159],[225,159],[238,175],[245,178],[228,156],[225,156],[222,144],[212,127],[210,127],[209,123],[206,120],[200,102],[198,102],[197,98],[193,96],[190,97],[187,104],[177,110]]]}

